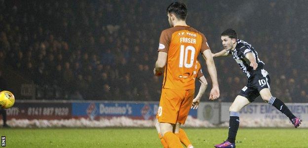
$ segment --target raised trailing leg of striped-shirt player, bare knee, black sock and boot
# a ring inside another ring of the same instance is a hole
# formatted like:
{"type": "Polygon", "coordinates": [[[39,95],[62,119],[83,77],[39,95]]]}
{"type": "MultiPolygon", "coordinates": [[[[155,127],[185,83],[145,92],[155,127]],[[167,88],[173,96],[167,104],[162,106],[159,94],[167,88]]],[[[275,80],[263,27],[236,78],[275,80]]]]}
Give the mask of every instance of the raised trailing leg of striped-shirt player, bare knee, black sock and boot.
{"type": "Polygon", "coordinates": [[[260,95],[264,101],[268,102],[270,105],[274,106],[277,110],[289,117],[296,128],[300,126],[302,119],[296,117],[281,100],[272,96],[269,88],[262,89],[260,95]]]}

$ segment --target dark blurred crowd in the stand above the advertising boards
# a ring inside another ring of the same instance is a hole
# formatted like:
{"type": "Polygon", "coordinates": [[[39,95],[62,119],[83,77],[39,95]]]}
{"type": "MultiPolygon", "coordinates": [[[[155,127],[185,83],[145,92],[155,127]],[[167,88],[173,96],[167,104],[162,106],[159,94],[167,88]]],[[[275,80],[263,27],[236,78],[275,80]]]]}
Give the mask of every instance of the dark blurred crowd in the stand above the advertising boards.
{"type": "MultiPolygon", "coordinates": [[[[308,14],[303,13],[308,1],[187,3],[188,24],[204,33],[212,52],[222,49],[220,33],[235,29],[259,52],[277,98],[308,101],[308,14]]],[[[0,0],[0,60],[33,80],[38,99],[157,101],[162,77],[154,76],[153,68],[160,33],[169,27],[168,4],[0,0]]],[[[209,82],[206,101],[211,80],[199,60],[209,82]]],[[[247,79],[231,57],[215,64],[220,99],[230,102],[247,79]]]]}

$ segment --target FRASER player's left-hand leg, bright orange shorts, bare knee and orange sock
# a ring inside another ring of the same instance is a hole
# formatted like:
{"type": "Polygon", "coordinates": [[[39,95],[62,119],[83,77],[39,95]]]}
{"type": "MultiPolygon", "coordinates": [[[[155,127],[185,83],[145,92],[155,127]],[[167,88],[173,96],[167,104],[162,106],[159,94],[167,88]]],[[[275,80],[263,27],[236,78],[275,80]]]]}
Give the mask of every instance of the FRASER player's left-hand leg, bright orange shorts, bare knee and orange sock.
{"type": "Polygon", "coordinates": [[[180,139],[173,133],[176,124],[180,102],[185,92],[183,90],[162,89],[156,118],[160,133],[169,148],[183,148],[180,139]]]}

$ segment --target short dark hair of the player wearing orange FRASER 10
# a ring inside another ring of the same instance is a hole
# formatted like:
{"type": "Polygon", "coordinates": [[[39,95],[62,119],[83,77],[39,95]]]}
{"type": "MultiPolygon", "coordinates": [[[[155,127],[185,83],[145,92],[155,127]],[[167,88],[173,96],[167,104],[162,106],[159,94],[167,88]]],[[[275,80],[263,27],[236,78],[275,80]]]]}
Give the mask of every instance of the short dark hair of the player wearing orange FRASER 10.
{"type": "Polygon", "coordinates": [[[187,6],[181,2],[172,2],[167,7],[167,13],[174,14],[178,19],[185,20],[187,16],[187,6]]]}

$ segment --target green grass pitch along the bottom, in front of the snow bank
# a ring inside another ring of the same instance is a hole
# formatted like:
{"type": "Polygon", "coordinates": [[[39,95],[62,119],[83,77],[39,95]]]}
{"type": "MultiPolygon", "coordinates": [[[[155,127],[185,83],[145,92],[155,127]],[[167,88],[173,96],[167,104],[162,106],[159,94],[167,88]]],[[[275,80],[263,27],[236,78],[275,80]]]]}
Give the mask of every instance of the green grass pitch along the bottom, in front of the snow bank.
{"type": "MultiPolygon", "coordinates": [[[[195,148],[213,148],[228,128],[184,128],[195,148]]],[[[236,148],[308,148],[308,129],[240,128],[236,148]]],[[[161,148],[154,128],[0,128],[6,148],[161,148]]],[[[3,147],[4,148],[4,147],[3,147]]]]}

